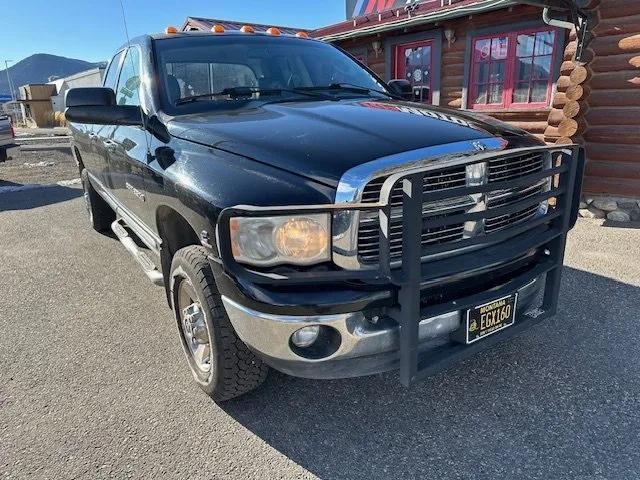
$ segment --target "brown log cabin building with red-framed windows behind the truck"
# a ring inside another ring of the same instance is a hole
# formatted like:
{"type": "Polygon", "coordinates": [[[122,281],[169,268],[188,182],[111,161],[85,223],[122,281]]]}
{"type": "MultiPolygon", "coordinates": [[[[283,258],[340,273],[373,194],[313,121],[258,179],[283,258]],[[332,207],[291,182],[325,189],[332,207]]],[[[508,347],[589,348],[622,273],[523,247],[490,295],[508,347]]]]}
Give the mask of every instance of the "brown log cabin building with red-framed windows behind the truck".
{"type": "MultiPolygon", "coordinates": [[[[584,144],[586,196],[640,199],[640,0],[584,2],[595,29],[580,65],[574,33],[512,0],[346,0],[346,21],[310,33],[385,80],[409,80],[419,101],[584,144]]],[[[215,23],[242,25],[189,17],[182,30],[215,23]]]]}

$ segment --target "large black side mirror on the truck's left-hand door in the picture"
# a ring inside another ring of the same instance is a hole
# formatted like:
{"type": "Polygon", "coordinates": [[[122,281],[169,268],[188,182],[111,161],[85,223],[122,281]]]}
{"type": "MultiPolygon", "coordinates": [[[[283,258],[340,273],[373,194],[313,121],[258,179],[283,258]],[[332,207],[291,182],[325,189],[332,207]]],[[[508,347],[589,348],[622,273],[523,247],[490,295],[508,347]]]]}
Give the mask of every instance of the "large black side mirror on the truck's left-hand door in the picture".
{"type": "Polygon", "coordinates": [[[140,107],[117,105],[111,88],[71,88],[65,95],[64,116],[69,122],[96,125],[142,126],[140,107]]]}

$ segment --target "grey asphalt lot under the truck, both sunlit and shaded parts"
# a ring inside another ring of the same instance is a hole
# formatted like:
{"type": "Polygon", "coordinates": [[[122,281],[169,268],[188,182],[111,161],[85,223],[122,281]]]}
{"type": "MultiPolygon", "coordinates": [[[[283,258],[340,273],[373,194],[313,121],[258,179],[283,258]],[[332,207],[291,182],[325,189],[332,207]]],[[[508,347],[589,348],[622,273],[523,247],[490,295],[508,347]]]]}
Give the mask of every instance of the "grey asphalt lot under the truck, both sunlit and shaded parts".
{"type": "Polygon", "coordinates": [[[581,220],[557,317],[411,390],[272,373],[218,406],[80,194],[0,193],[0,478],[640,478],[640,230],[581,220]]]}

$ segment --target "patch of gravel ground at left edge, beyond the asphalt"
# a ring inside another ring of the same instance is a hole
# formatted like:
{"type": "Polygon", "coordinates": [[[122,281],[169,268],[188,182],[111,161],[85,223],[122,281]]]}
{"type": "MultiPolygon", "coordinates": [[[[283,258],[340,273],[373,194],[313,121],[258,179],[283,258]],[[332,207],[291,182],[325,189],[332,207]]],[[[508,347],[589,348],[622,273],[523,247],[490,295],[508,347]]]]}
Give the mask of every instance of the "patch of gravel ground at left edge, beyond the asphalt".
{"type": "MultiPolygon", "coordinates": [[[[30,145],[68,144],[69,140],[51,139],[29,142],[30,145]]],[[[0,188],[24,184],[49,184],[78,178],[78,168],[71,150],[61,147],[50,150],[29,150],[26,147],[11,147],[12,158],[0,162],[0,188]]]]}

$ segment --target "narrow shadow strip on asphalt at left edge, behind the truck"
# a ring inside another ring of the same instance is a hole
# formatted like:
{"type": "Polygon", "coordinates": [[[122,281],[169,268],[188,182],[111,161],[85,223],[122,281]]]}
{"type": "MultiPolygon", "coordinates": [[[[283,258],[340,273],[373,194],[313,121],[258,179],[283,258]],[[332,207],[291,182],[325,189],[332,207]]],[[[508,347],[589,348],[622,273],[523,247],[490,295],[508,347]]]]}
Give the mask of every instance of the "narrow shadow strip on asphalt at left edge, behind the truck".
{"type": "Polygon", "coordinates": [[[29,210],[82,196],[82,188],[79,187],[62,185],[34,185],[33,188],[26,189],[24,187],[31,186],[0,180],[0,212],[29,210]],[[15,188],[15,191],[12,188],[15,188]]]}

